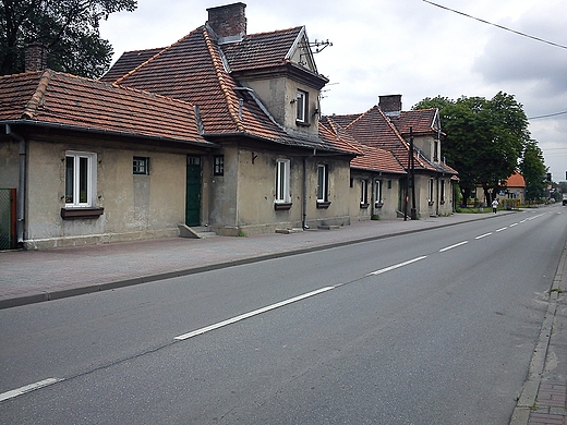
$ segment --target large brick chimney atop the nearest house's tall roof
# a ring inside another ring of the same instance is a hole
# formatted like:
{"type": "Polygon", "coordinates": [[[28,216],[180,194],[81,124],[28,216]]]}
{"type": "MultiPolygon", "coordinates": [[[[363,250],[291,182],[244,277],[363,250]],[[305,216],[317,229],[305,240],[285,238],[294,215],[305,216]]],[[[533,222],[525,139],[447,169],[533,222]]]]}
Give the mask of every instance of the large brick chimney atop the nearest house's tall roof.
{"type": "Polygon", "coordinates": [[[208,26],[219,37],[219,42],[240,41],[246,35],[246,4],[232,3],[207,9],[208,26]]]}

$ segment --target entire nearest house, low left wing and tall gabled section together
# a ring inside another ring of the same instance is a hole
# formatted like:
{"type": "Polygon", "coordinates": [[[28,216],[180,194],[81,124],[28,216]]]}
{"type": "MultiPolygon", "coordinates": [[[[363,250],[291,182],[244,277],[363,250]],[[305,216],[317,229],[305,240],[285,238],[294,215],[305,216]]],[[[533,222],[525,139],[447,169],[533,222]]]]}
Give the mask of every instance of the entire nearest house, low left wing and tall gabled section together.
{"type": "MultiPolygon", "coordinates": [[[[249,35],[245,4],[100,80],[50,70],[0,81],[0,186],[27,248],[350,223],[350,161],[319,136],[305,27],[249,35]]],[[[39,54],[41,57],[41,54],[39,54]]]]}

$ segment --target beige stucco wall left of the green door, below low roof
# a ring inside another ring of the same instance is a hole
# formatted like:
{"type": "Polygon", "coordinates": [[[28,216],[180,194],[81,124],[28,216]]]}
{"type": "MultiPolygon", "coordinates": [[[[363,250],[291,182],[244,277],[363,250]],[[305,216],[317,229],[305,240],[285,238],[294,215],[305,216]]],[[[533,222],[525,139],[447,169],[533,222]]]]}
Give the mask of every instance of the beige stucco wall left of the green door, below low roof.
{"type": "Polygon", "coordinates": [[[184,222],[184,154],[31,139],[27,165],[27,248],[172,236],[184,222]],[[61,217],[68,150],[97,154],[97,218],[61,217]],[[149,158],[148,175],[133,174],[134,156],[149,158]]]}

